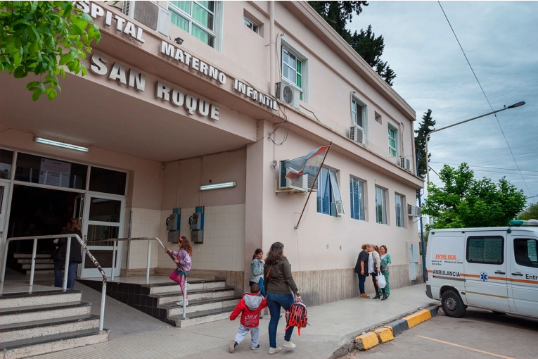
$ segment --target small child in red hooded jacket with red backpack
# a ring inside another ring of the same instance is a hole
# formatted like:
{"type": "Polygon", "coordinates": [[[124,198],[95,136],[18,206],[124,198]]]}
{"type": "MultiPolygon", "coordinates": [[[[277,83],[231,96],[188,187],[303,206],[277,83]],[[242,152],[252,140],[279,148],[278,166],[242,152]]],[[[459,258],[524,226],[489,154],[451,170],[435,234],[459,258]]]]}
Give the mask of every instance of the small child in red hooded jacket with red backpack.
{"type": "Polygon", "coordinates": [[[236,320],[239,313],[241,314],[241,324],[235,338],[231,339],[229,348],[230,353],[236,350],[245,336],[247,336],[250,330],[250,336],[252,341],[250,342],[250,348],[255,351],[260,348],[258,340],[260,339],[260,312],[263,308],[267,307],[267,301],[264,297],[260,296],[260,284],[252,283],[250,286],[250,293],[243,294],[241,301],[237,303],[236,308],[230,315],[230,320],[236,320]]]}

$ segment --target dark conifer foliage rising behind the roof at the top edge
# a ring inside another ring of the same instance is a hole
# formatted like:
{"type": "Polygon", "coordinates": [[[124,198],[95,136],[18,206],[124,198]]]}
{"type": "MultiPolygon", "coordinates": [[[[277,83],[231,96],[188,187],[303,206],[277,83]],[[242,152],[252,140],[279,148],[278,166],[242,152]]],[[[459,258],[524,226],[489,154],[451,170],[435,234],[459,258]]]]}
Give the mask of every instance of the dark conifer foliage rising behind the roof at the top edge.
{"type": "Polygon", "coordinates": [[[326,22],[333,27],[350,46],[364,58],[376,73],[392,86],[396,73],[390,68],[387,61],[381,61],[381,55],[385,49],[383,36],[376,37],[372,31],[372,25],[366,31],[360,32],[347,30],[346,25],[352,22],[353,15],[360,15],[363,6],[368,6],[368,1],[318,1],[309,0],[308,4],[321,15],[326,22]]]}

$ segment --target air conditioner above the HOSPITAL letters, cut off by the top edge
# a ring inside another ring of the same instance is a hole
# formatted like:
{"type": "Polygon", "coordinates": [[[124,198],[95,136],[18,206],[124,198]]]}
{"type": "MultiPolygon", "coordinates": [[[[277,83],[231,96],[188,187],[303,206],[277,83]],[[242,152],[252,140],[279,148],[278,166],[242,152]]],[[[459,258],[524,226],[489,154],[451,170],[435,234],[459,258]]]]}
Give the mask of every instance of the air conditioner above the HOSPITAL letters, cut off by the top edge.
{"type": "Polygon", "coordinates": [[[165,36],[170,35],[171,14],[153,1],[123,1],[122,13],[165,36]]]}

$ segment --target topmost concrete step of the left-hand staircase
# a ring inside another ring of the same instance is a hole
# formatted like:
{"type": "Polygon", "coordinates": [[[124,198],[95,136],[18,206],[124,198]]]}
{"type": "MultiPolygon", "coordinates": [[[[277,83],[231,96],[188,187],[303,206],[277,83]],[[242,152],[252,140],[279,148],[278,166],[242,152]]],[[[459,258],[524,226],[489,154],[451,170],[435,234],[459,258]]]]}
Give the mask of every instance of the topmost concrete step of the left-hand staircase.
{"type": "Polygon", "coordinates": [[[82,299],[82,291],[77,289],[51,289],[34,293],[9,293],[0,295],[0,309],[46,306],[53,303],[77,302],[82,299]]]}

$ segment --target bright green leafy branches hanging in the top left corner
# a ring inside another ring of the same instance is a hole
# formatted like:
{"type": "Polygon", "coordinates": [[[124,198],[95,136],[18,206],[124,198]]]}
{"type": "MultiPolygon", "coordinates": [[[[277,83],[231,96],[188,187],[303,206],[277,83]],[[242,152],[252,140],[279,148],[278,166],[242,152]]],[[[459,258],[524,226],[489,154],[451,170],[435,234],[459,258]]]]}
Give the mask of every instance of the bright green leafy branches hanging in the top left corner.
{"type": "Polygon", "coordinates": [[[86,75],[80,60],[101,39],[91,17],[72,1],[0,1],[0,24],[0,71],[15,78],[37,75],[27,84],[34,101],[42,94],[56,98],[65,68],[86,75]]]}

